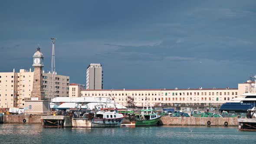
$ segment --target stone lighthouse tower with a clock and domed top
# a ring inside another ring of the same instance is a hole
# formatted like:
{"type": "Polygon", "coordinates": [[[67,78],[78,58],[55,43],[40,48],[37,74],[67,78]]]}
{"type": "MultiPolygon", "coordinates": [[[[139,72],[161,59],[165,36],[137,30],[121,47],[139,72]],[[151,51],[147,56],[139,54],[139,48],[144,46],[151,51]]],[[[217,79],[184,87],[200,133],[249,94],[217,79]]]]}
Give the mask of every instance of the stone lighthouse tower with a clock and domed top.
{"type": "Polygon", "coordinates": [[[40,52],[40,48],[38,47],[33,56],[34,77],[31,98],[25,101],[25,108],[27,108],[27,112],[30,114],[48,112],[49,103],[43,91],[43,58],[43,53],[40,52]]]}

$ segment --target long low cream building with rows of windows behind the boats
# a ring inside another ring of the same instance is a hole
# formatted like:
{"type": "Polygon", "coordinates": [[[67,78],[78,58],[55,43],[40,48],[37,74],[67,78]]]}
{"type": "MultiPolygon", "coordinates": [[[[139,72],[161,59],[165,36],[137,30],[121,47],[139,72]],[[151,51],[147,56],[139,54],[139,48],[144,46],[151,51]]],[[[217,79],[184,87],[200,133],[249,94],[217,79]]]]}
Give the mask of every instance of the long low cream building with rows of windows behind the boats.
{"type": "Polygon", "coordinates": [[[243,97],[251,82],[238,84],[238,88],[187,88],[187,89],[115,89],[82,90],[81,97],[112,97],[121,105],[145,106],[220,106],[233,98],[243,97]]]}

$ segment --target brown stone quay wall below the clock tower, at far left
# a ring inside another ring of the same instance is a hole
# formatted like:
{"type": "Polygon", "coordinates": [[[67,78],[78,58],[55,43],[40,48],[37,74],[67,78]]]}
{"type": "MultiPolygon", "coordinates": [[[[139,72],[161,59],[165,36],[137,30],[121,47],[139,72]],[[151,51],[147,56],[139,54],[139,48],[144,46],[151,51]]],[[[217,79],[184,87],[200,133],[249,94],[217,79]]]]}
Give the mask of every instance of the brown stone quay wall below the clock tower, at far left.
{"type": "Polygon", "coordinates": [[[42,124],[42,115],[3,115],[4,123],[23,123],[23,119],[26,123],[42,124]]]}

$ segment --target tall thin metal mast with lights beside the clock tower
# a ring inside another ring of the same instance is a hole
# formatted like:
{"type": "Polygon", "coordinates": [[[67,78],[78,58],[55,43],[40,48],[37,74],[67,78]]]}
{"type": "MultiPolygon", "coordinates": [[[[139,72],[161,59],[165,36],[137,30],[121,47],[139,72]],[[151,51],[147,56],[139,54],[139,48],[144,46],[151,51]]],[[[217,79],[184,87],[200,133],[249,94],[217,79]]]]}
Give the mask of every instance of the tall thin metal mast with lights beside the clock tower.
{"type": "MultiPolygon", "coordinates": [[[[52,79],[50,82],[50,88],[51,88],[51,98],[53,100],[53,98],[56,97],[55,95],[55,75],[56,75],[56,71],[55,71],[55,52],[54,52],[54,44],[56,41],[56,38],[51,38],[52,43],[53,43],[53,50],[52,50],[52,62],[51,62],[51,74],[52,74],[52,79]]],[[[52,101],[53,102],[53,101],[52,101]]]]}

